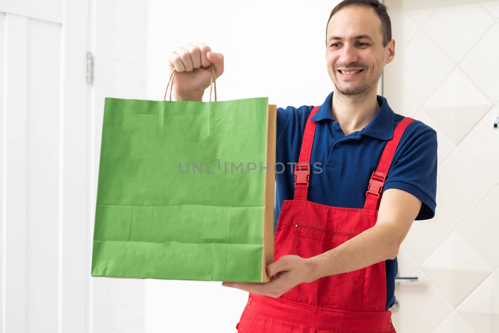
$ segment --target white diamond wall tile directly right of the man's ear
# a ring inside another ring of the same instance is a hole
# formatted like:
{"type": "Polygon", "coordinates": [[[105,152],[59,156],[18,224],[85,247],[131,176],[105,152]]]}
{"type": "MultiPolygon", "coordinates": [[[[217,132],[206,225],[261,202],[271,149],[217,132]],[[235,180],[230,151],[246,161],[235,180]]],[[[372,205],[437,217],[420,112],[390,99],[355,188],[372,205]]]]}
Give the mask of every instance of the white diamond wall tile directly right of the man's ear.
{"type": "Polygon", "coordinates": [[[455,66],[454,60],[422,30],[407,44],[403,54],[404,75],[400,83],[417,103],[424,102],[455,66]]]}

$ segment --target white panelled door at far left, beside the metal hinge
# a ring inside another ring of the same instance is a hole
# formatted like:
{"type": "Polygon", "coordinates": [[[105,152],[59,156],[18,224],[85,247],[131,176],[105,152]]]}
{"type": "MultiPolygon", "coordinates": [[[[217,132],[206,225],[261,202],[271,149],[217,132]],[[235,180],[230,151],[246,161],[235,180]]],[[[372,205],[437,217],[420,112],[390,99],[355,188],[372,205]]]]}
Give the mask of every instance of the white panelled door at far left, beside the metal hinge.
{"type": "Polygon", "coordinates": [[[87,0],[0,1],[0,332],[88,323],[87,0]]]}

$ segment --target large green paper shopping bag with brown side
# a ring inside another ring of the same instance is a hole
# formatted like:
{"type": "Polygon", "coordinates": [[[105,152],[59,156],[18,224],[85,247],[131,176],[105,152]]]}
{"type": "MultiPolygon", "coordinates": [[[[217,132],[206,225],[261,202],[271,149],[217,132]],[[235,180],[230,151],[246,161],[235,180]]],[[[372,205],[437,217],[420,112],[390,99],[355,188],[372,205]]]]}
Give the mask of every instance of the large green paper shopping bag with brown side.
{"type": "Polygon", "coordinates": [[[267,282],[275,105],[106,98],[92,276],[267,282]]]}

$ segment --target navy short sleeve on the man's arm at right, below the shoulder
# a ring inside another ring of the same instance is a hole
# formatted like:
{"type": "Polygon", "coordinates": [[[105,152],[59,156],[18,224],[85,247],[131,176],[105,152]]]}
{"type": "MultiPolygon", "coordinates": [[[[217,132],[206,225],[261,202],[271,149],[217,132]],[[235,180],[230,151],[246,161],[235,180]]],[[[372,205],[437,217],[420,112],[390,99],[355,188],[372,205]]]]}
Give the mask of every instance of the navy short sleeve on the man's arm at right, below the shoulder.
{"type": "Polygon", "coordinates": [[[428,220],[437,205],[437,132],[420,121],[414,123],[399,142],[383,191],[396,188],[416,196],[423,202],[416,220],[428,220]]]}

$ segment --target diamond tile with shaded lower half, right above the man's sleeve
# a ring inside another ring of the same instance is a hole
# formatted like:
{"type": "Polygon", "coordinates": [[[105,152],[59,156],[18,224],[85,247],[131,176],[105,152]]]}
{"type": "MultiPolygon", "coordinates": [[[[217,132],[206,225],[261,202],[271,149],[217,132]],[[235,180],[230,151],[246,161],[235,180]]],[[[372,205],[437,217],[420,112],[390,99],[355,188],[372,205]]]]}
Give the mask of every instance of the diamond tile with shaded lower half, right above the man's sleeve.
{"type": "Polygon", "coordinates": [[[494,104],[456,68],[423,109],[458,144],[494,104]]]}

